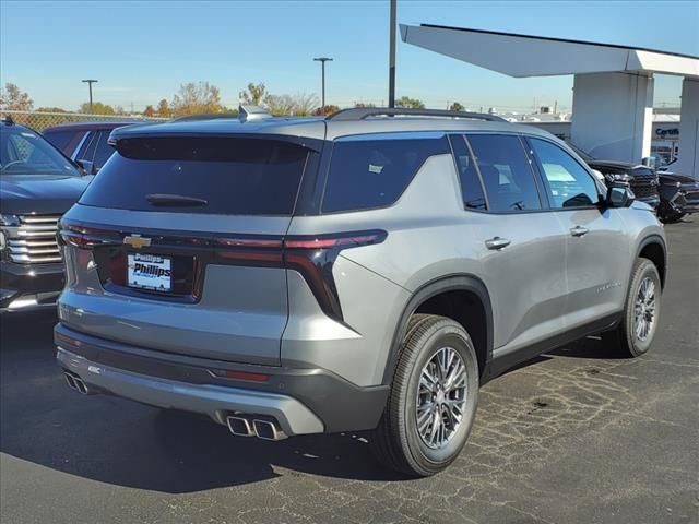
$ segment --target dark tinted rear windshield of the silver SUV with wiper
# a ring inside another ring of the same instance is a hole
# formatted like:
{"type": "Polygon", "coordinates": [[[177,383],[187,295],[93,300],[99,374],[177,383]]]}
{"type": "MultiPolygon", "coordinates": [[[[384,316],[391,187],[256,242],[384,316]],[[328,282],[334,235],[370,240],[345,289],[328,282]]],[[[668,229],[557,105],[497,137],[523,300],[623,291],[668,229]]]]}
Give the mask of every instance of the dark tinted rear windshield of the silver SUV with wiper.
{"type": "Polygon", "coordinates": [[[291,215],[307,155],[299,145],[269,139],[122,139],[80,203],[133,211],[291,215]],[[185,204],[158,202],[153,195],[175,195],[185,204]]]}

